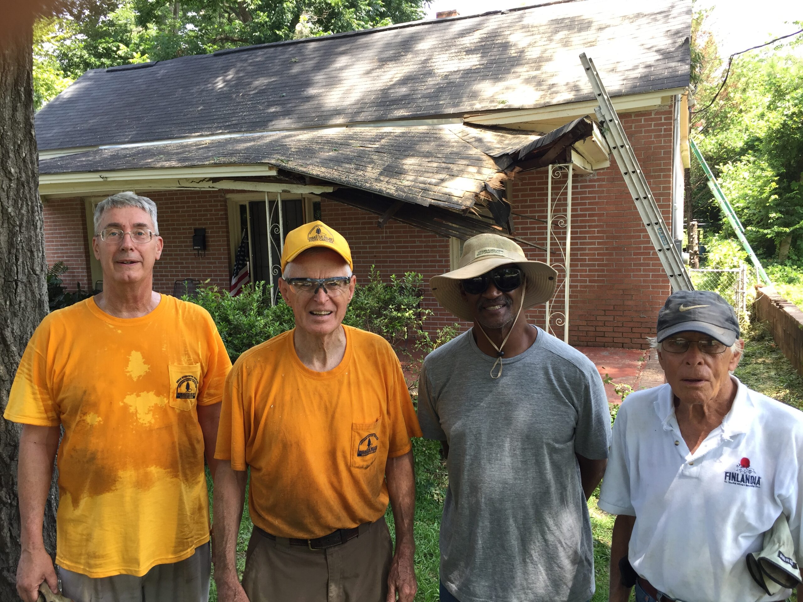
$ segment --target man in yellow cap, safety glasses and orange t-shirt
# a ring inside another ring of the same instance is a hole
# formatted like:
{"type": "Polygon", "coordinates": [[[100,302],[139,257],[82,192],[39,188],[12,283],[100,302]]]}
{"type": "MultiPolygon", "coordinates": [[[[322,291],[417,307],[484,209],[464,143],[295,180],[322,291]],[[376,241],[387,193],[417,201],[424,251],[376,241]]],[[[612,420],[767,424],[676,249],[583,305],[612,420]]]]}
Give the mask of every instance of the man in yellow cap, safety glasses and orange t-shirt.
{"type": "Polygon", "coordinates": [[[323,222],[287,234],[279,288],[296,327],[243,353],[226,379],[215,458],[221,602],[410,602],[420,437],[402,368],[381,337],[342,325],[349,244],[323,222]],[[234,550],[254,531],[243,584],[234,550]],[[396,552],[385,524],[388,500],[396,552]]]}

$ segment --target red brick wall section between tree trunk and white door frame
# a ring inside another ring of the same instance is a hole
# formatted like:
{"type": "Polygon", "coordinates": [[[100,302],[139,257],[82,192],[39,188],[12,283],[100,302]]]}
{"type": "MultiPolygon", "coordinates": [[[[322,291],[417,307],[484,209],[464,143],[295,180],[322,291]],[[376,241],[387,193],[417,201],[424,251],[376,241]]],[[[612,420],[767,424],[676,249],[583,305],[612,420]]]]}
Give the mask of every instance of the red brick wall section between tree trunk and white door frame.
{"type": "Polygon", "coordinates": [[[87,290],[92,287],[86,209],[83,198],[56,198],[44,201],[45,256],[47,266],[64,262],[67,273],[61,278],[67,291],[75,291],[75,283],[87,290]]]}

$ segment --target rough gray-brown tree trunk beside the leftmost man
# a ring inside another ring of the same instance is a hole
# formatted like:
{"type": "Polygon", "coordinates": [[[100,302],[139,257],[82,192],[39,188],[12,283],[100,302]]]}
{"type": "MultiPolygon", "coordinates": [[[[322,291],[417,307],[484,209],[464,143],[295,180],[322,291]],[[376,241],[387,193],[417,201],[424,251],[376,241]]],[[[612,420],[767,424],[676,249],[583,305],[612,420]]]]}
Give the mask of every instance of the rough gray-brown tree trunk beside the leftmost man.
{"type": "MultiPolygon", "coordinates": [[[[47,314],[44,230],[34,137],[31,27],[0,36],[0,412],[22,352],[47,314]]],[[[0,600],[18,600],[20,427],[0,418],[0,600]]],[[[55,551],[54,488],[44,539],[55,551]]]]}

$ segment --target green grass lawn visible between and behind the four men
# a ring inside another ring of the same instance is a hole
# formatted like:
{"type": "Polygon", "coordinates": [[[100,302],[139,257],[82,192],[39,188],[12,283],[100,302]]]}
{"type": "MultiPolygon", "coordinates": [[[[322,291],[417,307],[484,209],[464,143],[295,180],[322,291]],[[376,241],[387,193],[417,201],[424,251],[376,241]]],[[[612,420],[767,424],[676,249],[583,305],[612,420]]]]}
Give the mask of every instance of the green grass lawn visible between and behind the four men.
{"type": "MultiPolygon", "coordinates": [[[[774,397],[798,409],[803,409],[803,378],[797,374],[781,350],[772,341],[764,324],[752,324],[743,333],[744,358],[736,376],[748,387],[764,395],[774,397]]],[[[441,522],[443,498],[446,495],[446,465],[440,458],[440,444],[436,441],[416,439],[413,441],[416,470],[415,508],[415,565],[418,576],[416,600],[438,600],[438,531],[441,522]]],[[[207,481],[209,481],[207,475],[207,481]]],[[[210,482],[210,506],[211,506],[210,482]]],[[[248,507],[243,513],[237,544],[237,566],[242,576],[248,538],[251,536],[251,519],[248,507]]],[[[589,500],[589,515],[594,539],[594,569],[597,592],[593,602],[608,600],[608,566],[610,541],[613,531],[613,515],[597,508],[596,494],[589,500]]],[[[386,515],[390,533],[393,535],[393,515],[386,515]]],[[[630,598],[633,600],[633,597],[630,598]]],[[[218,600],[212,584],[210,601],[218,600]]],[[[792,600],[797,600],[795,596],[792,600]]]]}

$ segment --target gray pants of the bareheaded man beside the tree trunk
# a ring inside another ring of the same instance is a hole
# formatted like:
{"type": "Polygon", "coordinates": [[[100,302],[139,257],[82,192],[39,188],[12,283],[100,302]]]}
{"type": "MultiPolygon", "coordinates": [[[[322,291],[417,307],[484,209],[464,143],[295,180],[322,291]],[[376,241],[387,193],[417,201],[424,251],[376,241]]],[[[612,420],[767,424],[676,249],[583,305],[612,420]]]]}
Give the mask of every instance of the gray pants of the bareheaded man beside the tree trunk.
{"type": "Polygon", "coordinates": [[[209,543],[188,559],[157,564],[141,577],[93,579],[58,567],[61,593],[75,602],[208,602],[212,568],[209,543]]]}

